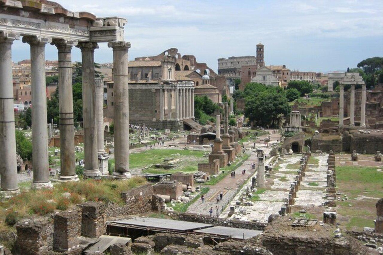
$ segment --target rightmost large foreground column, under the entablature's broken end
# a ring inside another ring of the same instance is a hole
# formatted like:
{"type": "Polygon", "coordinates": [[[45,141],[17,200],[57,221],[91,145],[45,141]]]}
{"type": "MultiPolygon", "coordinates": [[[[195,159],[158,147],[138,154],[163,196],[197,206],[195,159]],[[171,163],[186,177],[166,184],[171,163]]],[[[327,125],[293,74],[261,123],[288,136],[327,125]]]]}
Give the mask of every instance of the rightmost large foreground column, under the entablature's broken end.
{"type": "Polygon", "coordinates": [[[129,90],[128,50],[130,42],[109,42],[113,48],[114,69],[114,175],[129,178],[129,90]]]}

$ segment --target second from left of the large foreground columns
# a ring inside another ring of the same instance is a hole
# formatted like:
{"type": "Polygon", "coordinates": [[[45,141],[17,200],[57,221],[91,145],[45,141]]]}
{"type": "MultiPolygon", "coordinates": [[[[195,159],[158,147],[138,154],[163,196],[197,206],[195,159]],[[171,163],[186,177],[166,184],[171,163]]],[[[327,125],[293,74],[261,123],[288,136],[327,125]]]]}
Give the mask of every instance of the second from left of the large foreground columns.
{"type": "Polygon", "coordinates": [[[30,45],[30,71],[32,87],[32,188],[49,188],[48,128],[46,115],[45,44],[51,39],[24,36],[30,45]]]}

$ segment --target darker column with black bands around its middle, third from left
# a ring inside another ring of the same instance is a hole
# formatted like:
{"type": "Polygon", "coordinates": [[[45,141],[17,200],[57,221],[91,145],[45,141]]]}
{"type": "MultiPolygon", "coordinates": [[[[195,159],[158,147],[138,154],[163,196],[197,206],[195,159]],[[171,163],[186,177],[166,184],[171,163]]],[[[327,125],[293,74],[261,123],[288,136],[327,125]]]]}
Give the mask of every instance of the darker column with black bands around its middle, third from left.
{"type": "Polygon", "coordinates": [[[60,117],[60,181],[78,181],[74,153],[72,47],[73,41],[54,40],[58,49],[58,104],[60,117]]]}

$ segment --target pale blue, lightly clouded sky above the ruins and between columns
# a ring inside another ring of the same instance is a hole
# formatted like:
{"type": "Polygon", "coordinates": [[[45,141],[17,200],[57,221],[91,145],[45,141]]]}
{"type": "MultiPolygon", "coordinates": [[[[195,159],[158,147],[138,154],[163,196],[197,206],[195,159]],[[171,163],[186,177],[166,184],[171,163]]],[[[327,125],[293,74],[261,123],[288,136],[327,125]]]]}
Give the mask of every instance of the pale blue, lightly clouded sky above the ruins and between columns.
{"type": "MultiPolygon", "coordinates": [[[[217,70],[217,59],[255,56],[265,45],[266,65],[329,72],[383,57],[383,0],[56,0],[71,11],[128,20],[129,59],[178,48],[217,70]]],[[[95,61],[113,62],[100,43],[95,61]]],[[[73,49],[73,61],[81,61],[73,49]]],[[[13,60],[29,58],[27,44],[14,43],[13,60]]],[[[46,59],[57,50],[46,47],[46,59]]]]}

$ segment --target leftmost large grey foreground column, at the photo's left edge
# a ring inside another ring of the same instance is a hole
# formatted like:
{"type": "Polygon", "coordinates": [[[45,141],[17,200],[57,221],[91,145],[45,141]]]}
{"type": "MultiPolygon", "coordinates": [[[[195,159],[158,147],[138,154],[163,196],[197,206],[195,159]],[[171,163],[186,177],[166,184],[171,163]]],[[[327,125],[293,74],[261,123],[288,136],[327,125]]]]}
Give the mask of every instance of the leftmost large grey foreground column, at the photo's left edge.
{"type": "Polygon", "coordinates": [[[20,36],[12,37],[0,37],[0,177],[1,191],[7,193],[18,191],[11,45],[20,36]]]}

